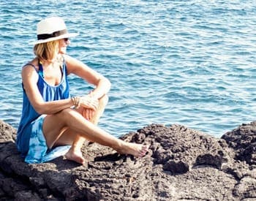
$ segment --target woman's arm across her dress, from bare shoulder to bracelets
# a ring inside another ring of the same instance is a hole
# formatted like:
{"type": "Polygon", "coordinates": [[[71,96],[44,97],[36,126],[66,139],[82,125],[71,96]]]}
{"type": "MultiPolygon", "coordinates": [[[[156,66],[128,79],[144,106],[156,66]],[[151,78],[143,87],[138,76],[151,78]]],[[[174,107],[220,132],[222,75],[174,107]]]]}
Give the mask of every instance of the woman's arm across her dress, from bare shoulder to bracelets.
{"type": "Polygon", "coordinates": [[[72,99],[61,99],[58,101],[45,102],[44,99],[42,99],[42,95],[40,94],[37,87],[37,80],[39,75],[34,70],[34,67],[23,67],[21,76],[26,95],[28,96],[31,105],[34,107],[34,110],[36,110],[37,113],[58,113],[59,111],[74,105],[72,99]]]}

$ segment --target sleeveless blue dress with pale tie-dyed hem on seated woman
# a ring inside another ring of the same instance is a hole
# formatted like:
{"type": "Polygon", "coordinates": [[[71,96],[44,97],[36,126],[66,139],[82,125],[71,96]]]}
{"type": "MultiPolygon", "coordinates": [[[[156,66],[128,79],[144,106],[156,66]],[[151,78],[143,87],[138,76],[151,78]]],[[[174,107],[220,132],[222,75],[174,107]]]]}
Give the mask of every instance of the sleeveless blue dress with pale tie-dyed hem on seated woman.
{"type": "MultiPolygon", "coordinates": [[[[26,64],[34,67],[33,64],[26,64]]],[[[34,67],[35,70],[36,67],[34,67]]],[[[62,78],[57,86],[50,86],[43,77],[42,65],[39,64],[37,87],[45,102],[68,99],[69,83],[67,80],[67,66],[61,67],[62,78]]],[[[22,84],[23,86],[23,84],[22,84]]],[[[21,156],[27,163],[48,162],[56,157],[63,156],[70,145],[48,149],[45,136],[42,133],[42,124],[46,115],[37,113],[29,102],[26,91],[23,88],[23,110],[18,126],[16,145],[21,156]]]]}

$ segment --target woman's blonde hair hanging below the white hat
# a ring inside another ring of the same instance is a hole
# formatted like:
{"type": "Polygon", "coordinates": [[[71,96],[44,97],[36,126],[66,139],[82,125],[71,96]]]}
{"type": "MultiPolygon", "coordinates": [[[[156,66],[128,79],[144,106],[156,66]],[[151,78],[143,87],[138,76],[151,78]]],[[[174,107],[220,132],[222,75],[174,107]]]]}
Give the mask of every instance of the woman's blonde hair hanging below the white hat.
{"type": "Polygon", "coordinates": [[[41,61],[52,61],[59,53],[59,40],[34,45],[34,54],[41,61]]]}

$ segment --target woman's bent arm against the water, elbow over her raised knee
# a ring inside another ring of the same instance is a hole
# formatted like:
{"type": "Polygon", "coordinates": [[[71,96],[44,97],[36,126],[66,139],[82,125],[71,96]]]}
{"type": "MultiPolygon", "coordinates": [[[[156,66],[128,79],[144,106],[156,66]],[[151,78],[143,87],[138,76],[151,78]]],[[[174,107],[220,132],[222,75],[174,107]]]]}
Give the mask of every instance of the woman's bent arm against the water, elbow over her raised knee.
{"type": "Polygon", "coordinates": [[[64,56],[68,73],[73,73],[79,77],[86,80],[88,83],[91,83],[95,86],[94,91],[91,91],[91,96],[94,98],[100,99],[105,94],[108,94],[110,91],[110,81],[100,75],[98,72],[95,72],[93,69],[83,64],[83,62],[78,61],[75,58],[65,55],[64,56]]]}

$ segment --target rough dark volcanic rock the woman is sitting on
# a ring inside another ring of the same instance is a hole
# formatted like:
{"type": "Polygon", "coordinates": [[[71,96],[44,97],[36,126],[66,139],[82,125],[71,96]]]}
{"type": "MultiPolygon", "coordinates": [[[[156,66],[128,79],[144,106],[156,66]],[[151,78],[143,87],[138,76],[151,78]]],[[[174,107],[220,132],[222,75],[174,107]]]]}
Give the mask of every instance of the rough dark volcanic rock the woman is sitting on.
{"type": "Polygon", "coordinates": [[[15,134],[0,121],[0,200],[256,200],[256,122],[220,139],[151,124],[121,137],[150,145],[142,159],[87,143],[83,166],[26,164],[15,134]]]}

